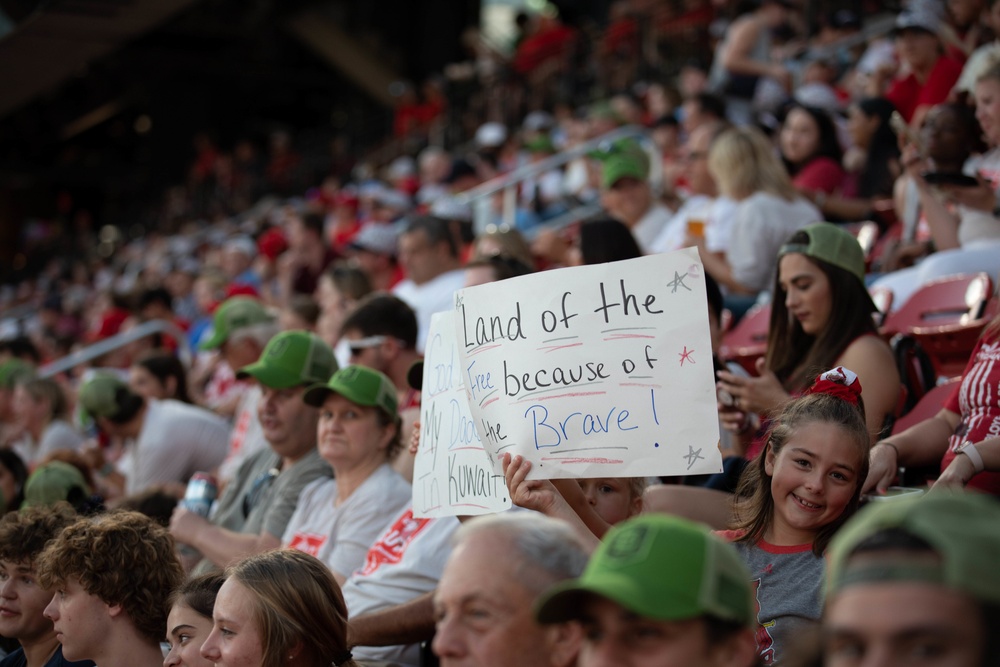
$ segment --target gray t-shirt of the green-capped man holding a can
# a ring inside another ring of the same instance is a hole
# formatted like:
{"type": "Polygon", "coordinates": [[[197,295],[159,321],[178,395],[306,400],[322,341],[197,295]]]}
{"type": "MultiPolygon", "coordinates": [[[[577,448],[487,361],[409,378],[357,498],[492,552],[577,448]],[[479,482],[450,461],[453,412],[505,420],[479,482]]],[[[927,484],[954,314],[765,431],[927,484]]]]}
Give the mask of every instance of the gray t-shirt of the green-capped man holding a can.
{"type": "MultiPolygon", "coordinates": [[[[212,523],[237,533],[260,535],[269,533],[281,539],[288,521],[298,505],[299,494],[310,482],[321,477],[333,476],[330,465],[313,447],[309,453],[287,470],[281,470],[273,481],[270,471],[279,468],[281,457],[270,447],[247,458],[236,472],[236,477],[226,487],[219,504],[212,514],[212,523]],[[244,499],[252,501],[250,513],[243,515],[244,499]]],[[[204,574],[217,569],[207,558],[195,567],[194,574],[204,574]]]]}

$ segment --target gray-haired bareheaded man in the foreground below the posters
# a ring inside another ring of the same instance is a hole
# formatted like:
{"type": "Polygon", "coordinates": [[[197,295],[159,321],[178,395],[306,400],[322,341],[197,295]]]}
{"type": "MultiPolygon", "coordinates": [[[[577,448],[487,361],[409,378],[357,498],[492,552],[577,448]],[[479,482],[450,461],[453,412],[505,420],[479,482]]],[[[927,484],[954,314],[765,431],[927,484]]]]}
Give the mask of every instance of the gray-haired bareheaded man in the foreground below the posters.
{"type": "Polygon", "coordinates": [[[567,524],[533,512],[472,519],[434,594],[434,652],[443,667],[568,667],[582,638],[578,626],[542,626],[532,613],[550,586],[578,577],[583,543],[567,524]]]}

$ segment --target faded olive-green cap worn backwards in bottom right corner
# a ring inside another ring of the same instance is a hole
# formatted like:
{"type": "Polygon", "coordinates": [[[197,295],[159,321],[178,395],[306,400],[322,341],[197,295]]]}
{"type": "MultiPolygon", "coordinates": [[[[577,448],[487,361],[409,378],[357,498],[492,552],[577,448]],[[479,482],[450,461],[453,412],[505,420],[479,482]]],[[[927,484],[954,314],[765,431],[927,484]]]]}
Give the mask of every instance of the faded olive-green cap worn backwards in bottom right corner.
{"type": "Polygon", "coordinates": [[[926,496],[871,503],[830,542],[826,598],[857,584],[924,581],[982,602],[1000,604],[998,526],[1000,503],[985,494],[935,491],[926,496]],[[865,541],[888,530],[923,540],[937,558],[933,563],[926,559],[914,563],[900,558],[899,550],[892,549],[884,559],[852,559],[865,541]]]}

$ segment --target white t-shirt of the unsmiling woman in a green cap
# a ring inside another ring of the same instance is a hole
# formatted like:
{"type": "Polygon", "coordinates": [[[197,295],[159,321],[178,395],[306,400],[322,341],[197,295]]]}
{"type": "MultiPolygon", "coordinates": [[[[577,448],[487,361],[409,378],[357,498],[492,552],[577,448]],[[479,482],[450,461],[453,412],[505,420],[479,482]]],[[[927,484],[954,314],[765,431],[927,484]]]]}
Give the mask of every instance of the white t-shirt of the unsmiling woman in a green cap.
{"type": "Polygon", "coordinates": [[[336,479],[304,489],[281,543],[319,558],[344,577],[361,567],[386,523],[410,502],[410,483],[383,463],[339,506],[336,479]]]}

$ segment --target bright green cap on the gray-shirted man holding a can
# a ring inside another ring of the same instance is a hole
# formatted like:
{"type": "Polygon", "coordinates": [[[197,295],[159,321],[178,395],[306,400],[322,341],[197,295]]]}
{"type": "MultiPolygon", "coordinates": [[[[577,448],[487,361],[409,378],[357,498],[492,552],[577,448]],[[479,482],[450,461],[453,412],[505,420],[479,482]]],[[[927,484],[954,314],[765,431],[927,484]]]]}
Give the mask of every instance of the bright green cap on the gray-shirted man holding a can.
{"type": "Polygon", "coordinates": [[[308,331],[282,331],[268,342],[260,359],[241,368],[236,377],[252,377],[265,387],[288,389],[325,382],[336,370],[333,349],[319,336],[308,331]]]}

